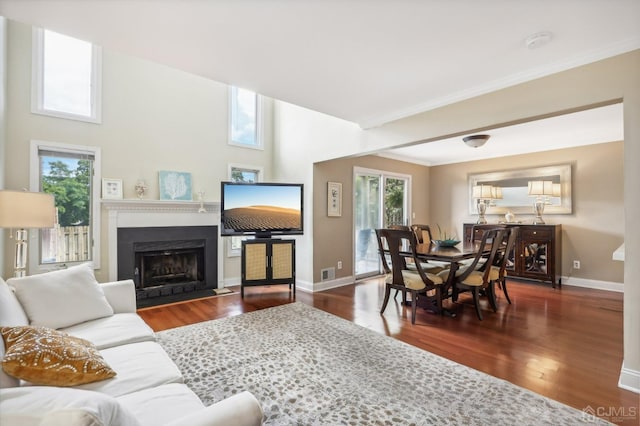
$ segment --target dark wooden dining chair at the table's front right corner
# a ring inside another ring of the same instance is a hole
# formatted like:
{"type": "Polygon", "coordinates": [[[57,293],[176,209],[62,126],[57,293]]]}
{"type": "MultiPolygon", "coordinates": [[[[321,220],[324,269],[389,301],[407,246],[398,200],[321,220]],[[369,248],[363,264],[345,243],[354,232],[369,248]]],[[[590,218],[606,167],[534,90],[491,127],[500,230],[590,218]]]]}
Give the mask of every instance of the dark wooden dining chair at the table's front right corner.
{"type": "Polygon", "coordinates": [[[480,309],[480,292],[484,293],[489,299],[489,304],[494,312],[498,310],[495,297],[495,282],[499,278],[498,268],[484,268],[479,270],[478,264],[484,260],[486,265],[493,265],[498,249],[504,240],[505,228],[486,229],[483,232],[479,247],[490,247],[489,250],[478,250],[472,262],[468,265],[462,265],[455,274],[453,284],[452,300],[458,300],[459,293],[470,291],[473,295],[473,304],[476,309],[478,319],[482,320],[482,311],[480,309]],[[488,251],[488,255],[485,253],[488,251]],[[486,257],[485,257],[486,256],[486,257]]]}

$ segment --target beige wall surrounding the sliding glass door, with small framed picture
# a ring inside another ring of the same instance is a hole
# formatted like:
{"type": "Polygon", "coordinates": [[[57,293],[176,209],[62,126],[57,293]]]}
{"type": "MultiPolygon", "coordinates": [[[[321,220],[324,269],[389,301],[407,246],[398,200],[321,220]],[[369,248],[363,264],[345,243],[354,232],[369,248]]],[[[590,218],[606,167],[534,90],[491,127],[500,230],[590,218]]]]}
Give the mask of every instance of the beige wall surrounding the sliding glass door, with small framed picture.
{"type": "Polygon", "coordinates": [[[320,269],[335,267],[336,279],[354,274],[353,173],[354,167],[410,175],[413,223],[429,223],[429,168],[377,156],[325,161],[313,173],[313,265],[314,282],[320,269]],[[327,216],[327,182],[342,183],[342,216],[327,216]],[[342,269],[337,269],[342,261],[342,269]]]}

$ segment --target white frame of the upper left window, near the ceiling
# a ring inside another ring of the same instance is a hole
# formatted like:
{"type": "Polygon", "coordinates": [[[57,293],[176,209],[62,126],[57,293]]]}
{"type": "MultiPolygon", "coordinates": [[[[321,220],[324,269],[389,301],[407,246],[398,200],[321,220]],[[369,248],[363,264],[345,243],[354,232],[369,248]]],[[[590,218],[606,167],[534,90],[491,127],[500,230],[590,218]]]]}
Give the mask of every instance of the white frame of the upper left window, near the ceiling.
{"type": "Polygon", "coordinates": [[[44,28],[32,30],[31,112],[68,120],[102,123],[102,48],[91,45],[91,115],[46,109],[44,107],[44,28]]]}

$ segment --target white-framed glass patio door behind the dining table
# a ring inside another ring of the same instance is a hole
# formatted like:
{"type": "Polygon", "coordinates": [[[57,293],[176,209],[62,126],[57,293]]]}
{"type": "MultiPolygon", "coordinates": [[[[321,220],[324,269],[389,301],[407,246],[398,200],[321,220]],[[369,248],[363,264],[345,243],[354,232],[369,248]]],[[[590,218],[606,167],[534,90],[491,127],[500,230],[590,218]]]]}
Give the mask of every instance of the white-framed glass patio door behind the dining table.
{"type": "Polygon", "coordinates": [[[376,228],[408,225],[411,176],[354,169],[354,247],[356,278],[380,273],[376,228]]]}

